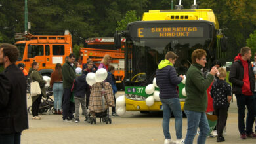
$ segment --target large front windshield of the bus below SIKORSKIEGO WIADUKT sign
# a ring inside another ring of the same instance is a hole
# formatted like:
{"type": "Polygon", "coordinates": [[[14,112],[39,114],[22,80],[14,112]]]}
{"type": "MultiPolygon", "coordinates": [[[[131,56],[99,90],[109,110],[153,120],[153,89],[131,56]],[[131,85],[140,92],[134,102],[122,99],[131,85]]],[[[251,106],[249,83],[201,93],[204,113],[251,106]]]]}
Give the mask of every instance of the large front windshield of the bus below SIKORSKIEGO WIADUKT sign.
{"type": "MultiPolygon", "coordinates": [[[[186,74],[191,65],[191,54],[197,48],[211,50],[213,39],[184,38],[184,39],[140,39],[140,41],[127,41],[125,63],[126,82],[142,82],[142,85],[152,83],[156,69],[165,54],[175,52],[179,58],[175,62],[175,69],[180,75],[186,74]]],[[[209,57],[207,56],[207,62],[209,57]]]]}

